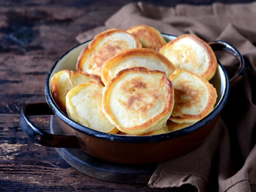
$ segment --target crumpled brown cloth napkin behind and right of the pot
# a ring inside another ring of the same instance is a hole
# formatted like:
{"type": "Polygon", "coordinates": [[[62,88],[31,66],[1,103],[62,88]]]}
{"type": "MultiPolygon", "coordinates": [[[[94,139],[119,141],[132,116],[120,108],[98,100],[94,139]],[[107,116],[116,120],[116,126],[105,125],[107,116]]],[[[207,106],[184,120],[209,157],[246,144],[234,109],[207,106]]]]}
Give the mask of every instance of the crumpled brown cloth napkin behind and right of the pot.
{"type": "MultiPolygon", "coordinates": [[[[172,35],[192,33],[206,42],[226,41],[244,56],[246,72],[230,88],[228,102],[207,139],[194,151],[160,163],[150,178],[151,188],[195,186],[202,191],[256,191],[256,2],[160,7],[127,4],[105,26],[77,36],[79,42],[109,29],[145,24],[172,35]]],[[[232,76],[236,59],[217,54],[232,76]]],[[[177,146],[178,147],[178,146],[177,146]]]]}

